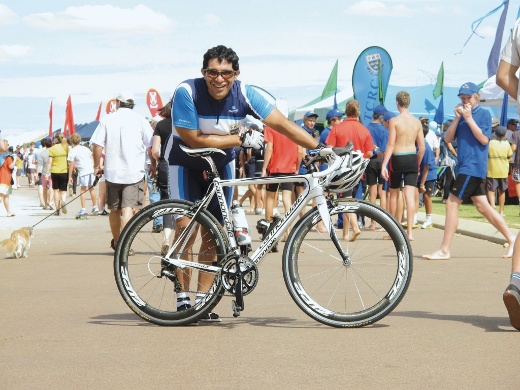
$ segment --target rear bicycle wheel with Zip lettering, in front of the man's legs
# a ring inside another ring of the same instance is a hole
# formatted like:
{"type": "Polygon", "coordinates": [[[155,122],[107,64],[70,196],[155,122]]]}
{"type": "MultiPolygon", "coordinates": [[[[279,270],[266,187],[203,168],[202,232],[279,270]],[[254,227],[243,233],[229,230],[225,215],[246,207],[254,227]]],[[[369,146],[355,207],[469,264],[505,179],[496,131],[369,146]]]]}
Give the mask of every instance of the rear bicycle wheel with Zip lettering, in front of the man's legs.
{"type": "MultiPolygon", "coordinates": [[[[209,293],[198,304],[194,304],[195,292],[198,291],[198,274],[203,272],[197,269],[184,268],[180,272],[191,272],[190,288],[185,292],[189,294],[191,308],[177,311],[175,284],[172,280],[162,277],[160,274],[161,263],[165,263],[161,250],[164,244],[162,233],[153,233],[153,219],[157,216],[174,218],[175,215],[193,217],[190,210],[193,203],[183,200],[162,200],[152,203],[136,215],[134,215],[124,227],[115,248],[114,276],[118,290],[125,303],[142,319],[161,326],[182,326],[196,322],[199,318],[209,313],[220,301],[223,295],[222,283],[215,275],[212,285],[207,286],[209,293]],[[130,249],[135,253],[129,255],[130,249]],[[191,270],[191,271],[187,271],[191,270]]],[[[175,219],[174,219],[175,220],[175,219]]],[[[204,253],[193,256],[192,261],[203,262],[204,258],[216,256],[217,262],[221,261],[228,248],[228,242],[222,231],[222,227],[215,217],[206,210],[202,210],[196,220],[200,225],[197,230],[196,242],[193,248],[185,249],[186,252],[199,252],[201,229],[205,228],[213,245],[208,245],[204,253]],[[194,251],[193,251],[194,250],[194,251]],[[204,258],[203,258],[204,257],[204,258]]],[[[175,223],[173,224],[175,226],[175,223]]],[[[175,231],[172,232],[168,243],[173,244],[175,231]]],[[[188,256],[188,255],[185,255],[188,256]]],[[[191,259],[191,258],[190,258],[191,259]]],[[[169,266],[169,269],[172,269],[169,266]]],[[[175,272],[175,271],[173,271],[175,272]]]]}

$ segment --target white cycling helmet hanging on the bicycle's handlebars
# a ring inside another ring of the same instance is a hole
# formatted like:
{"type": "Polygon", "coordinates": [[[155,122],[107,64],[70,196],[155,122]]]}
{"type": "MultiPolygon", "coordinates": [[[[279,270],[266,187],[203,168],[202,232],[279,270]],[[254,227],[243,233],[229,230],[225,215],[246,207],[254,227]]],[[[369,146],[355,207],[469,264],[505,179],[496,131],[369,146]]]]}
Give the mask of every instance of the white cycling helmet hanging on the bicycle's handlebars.
{"type": "Polygon", "coordinates": [[[342,159],[340,167],[327,177],[324,185],[331,192],[346,192],[354,188],[370,161],[363,158],[360,150],[354,150],[352,155],[347,154],[342,159]]]}

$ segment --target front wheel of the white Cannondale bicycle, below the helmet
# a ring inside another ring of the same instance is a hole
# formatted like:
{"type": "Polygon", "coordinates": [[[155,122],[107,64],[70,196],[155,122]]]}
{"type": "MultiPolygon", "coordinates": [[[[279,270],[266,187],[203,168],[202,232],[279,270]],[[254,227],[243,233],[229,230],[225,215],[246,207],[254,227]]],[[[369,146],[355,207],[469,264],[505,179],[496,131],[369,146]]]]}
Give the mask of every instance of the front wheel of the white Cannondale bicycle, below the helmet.
{"type": "MultiPolygon", "coordinates": [[[[410,242],[396,219],[370,202],[334,200],[331,217],[356,213],[374,219],[386,232],[361,230],[355,242],[341,240],[352,264],[345,266],[328,233],[311,231],[321,217],[316,208],[291,230],[282,256],[285,285],[294,302],[311,318],[337,328],[379,321],[399,304],[411,280],[410,242]],[[392,240],[382,240],[389,235],[392,240]]],[[[348,223],[347,223],[348,225],[348,223]]],[[[368,225],[367,225],[368,226],[368,225]]]]}

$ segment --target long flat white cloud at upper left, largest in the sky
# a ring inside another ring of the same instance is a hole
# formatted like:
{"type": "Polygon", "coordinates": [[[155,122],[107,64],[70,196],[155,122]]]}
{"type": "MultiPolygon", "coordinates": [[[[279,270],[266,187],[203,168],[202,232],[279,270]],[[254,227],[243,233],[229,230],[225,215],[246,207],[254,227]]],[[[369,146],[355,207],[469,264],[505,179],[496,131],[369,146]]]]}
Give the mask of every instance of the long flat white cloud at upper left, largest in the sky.
{"type": "Polygon", "coordinates": [[[119,8],[112,5],[68,7],[65,11],[31,14],[23,18],[31,27],[44,30],[157,33],[170,30],[175,22],[145,5],[119,8]]]}

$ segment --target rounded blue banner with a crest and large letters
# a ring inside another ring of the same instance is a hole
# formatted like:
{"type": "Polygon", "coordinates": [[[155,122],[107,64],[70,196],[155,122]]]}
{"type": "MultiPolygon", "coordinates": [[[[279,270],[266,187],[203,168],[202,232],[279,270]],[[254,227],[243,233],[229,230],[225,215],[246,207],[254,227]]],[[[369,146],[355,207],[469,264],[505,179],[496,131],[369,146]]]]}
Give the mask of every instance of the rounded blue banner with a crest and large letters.
{"type": "Polygon", "coordinates": [[[375,106],[383,104],[381,96],[386,96],[391,73],[392,58],[382,47],[368,47],[356,60],[352,73],[352,89],[354,99],[359,101],[361,109],[359,120],[362,124],[367,125],[372,122],[375,106]]]}

